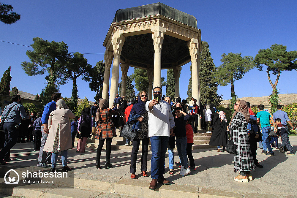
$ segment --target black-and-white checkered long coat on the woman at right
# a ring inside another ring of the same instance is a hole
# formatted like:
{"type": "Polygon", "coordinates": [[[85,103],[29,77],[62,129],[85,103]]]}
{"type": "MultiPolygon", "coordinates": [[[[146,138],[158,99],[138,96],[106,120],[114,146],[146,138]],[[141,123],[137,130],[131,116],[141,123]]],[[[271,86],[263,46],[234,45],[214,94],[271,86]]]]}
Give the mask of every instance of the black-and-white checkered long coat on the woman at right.
{"type": "Polygon", "coordinates": [[[244,115],[236,113],[229,129],[233,132],[233,142],[235,146],[234,153],[234,172],[251,171],[255,169],[255,164],[249,146],[249,137],[247,135],[247,121],[244,115]]]}

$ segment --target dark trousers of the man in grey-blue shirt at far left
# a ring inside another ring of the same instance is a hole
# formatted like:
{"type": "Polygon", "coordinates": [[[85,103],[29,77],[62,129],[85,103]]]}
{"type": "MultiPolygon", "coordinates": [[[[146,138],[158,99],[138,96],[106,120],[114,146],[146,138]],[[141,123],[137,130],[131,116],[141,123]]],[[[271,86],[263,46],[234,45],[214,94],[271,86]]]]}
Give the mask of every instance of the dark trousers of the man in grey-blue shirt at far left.
{"type": "Polygon", "coordinates": [[[15,128],[17,123],[14,122],[4,122],[4,134],[5,142],[4,147],[0,151],[0,158],[4,159],[10,157],[10,149],[17,143],[18,140],[18,130],[15,128]]]}

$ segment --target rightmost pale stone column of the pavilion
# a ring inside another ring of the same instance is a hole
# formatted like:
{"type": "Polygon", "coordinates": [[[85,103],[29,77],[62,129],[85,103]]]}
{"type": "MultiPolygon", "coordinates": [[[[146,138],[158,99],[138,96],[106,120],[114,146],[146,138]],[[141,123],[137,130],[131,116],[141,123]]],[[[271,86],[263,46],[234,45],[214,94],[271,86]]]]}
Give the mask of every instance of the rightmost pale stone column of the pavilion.
{"type": "MultiPolygon", "coordinates": [[[[199,86],[199,67],[200,67],[200,56],[199,56],[199,43],[198,39],[192,38],[187,42],[189,47],[191,62],[192,62],[192,96],[197,99],[197,105],[200,107],[200,86],[199,86]]],[[[201,129],[201,120],[198,117],[198,129],[201,129]]]]}

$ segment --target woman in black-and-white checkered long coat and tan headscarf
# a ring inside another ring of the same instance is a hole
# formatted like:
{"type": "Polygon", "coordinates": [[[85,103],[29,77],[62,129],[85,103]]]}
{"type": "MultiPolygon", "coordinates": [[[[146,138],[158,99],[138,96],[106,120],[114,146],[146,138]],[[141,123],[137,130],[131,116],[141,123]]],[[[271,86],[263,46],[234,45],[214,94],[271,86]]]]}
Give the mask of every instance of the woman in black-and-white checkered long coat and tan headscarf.
{"type": "Polygon", "coordinates": [[[253,180],[250,171],[255,169],[255,164],[247,135],[248,122],[249,110],[247,102],[237,100],[234,104],[231,123],[227,126],[228,131],[232,130],[235,146],[234,172],[239,171],[239,175],[234,177],[235,181],[248,182],[249,180],[253,180]]]}

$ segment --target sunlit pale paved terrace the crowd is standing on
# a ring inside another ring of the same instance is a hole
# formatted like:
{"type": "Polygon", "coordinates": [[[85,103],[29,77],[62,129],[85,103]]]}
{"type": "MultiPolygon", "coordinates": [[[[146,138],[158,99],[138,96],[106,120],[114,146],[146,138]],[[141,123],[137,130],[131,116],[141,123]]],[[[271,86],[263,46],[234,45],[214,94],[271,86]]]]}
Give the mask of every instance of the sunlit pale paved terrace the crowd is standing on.
{"type": "MultiPolygon", "coordinates": [[[[290,136],[290,142],[294,151],[296,151],[297,137],[290,136]]],[[[132,146],[129,146],[128,148],[131,149],[132,146]]],[[[294,197],[294,195],[297,195],[297,183],[296,179],[294,179],[297,168],[297,156],[287,155],[287,152],[280,153],[275,149],[275,156],[266,156],[260,154],[261,151],[262,149],[257,150],[257,159],[264,167],[252,171],[254,180],[249,181],[248,183],[241,183],[233,180],[233,177],[238,175],[238,172],[234,173],[233,155],[226,152],[218,153],[215,149],[193,150],[192,152],[197,170],[192,171],[185,177],[179,176],[178,167],[175,167],[175,175],[169,175],[168,158],[166,158],[165,178],[173,183],[172,186],[174,184],[184,184],[191,187],[207,187],[221,191],[255,194],[267,193],[275,195],[275,197],[290,197],[290,195],[294,197]]],[[[86,152],[83,154],[75,152],[75,149],[71,149],[68,152],[68,165],[74,166],[75,173],[86,179],[98,178],[99,180],[109,182],[127,179],[129,182],[131,180],[131,174],[129,172],[130,156],[130,150],[113,150],[110,159],[113,168],[106,170],[101,168],[97,170],[95,168],[95,148],[86,148],[86,152]]],[[[177,152],[175,152],[175,156],[175,161],[178,161],[177,152]]],[[[36,166],[37,157],[38,152],[33,152],[33,143],[27,142],[17,144],[12,149],[12,161],[9,163],[14,165],[36,166]]],[[[140,183],[145,183],[147,181],[147,187],[149,187],[151,178],[142,176],[140,171],[140,157],[141,153],[138,154],[136,181],[139,181],[140,183]]],[[[168,155],[166,155],[166,157],[168,157],[168,155]]],[[[150,174],[151,152],[149,152],[148,158],[148,174],[150,174]]],[[[60,159],[61,158],[59,157],[59,163],[57,164],[58,169],[61,169],[60,159]]],[[[104,164],[104,162],[105,150],[102,151],[101,164],[104,164]]],[[[133,182],[134,181],[135,180],[133,180],[133,182]]]]}

